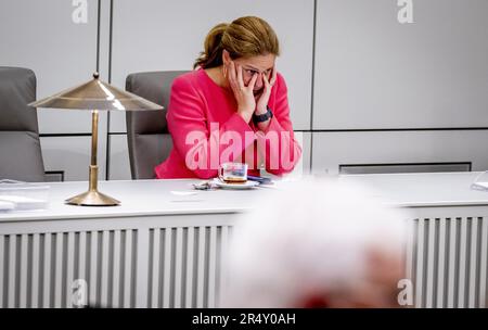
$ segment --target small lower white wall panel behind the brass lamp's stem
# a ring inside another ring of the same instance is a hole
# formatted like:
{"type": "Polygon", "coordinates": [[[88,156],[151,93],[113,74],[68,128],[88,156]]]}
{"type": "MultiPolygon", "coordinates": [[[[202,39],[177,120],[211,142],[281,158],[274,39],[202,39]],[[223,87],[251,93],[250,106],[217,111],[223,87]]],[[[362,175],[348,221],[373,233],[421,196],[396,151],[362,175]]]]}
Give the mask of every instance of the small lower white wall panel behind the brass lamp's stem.
{"type": "MultiPolygon", "coordinates": [[[[90,137],[42,137],[40,141],[46,170],[64,172],[65,181],[88,181],[90,137]]],[[[99,180],[105,179],[105,145],[106,134],[101,134],[98,150],[99,180]]]]}

